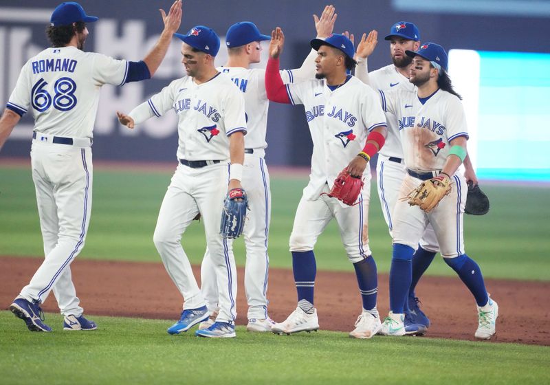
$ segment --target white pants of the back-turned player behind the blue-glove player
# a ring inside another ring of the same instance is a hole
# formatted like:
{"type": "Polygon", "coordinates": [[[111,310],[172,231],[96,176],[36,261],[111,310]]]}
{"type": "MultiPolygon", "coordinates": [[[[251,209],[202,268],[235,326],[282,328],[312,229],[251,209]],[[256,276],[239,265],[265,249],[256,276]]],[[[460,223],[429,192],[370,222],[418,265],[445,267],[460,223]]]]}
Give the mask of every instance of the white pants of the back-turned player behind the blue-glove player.
{"type": "MultiPolygon", "coordinates": [[[[267,171],[263,149],[245,154],[241,184],[248,195],[243,238],[246,248],[245,292],[248,302],[248,319],[267,318],[267,278],[270,257],[267,254],[267,237],[271,217],[270,174],[267,171]]],[[[210,252],[206,250],[201,265],[201,292],[210,312],[218,311],[218,287],[210,252]]]]}

